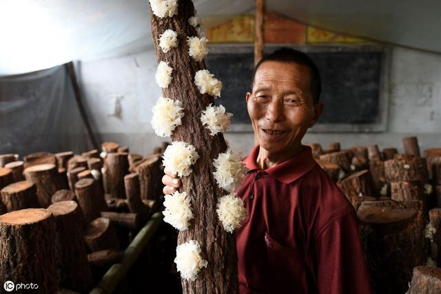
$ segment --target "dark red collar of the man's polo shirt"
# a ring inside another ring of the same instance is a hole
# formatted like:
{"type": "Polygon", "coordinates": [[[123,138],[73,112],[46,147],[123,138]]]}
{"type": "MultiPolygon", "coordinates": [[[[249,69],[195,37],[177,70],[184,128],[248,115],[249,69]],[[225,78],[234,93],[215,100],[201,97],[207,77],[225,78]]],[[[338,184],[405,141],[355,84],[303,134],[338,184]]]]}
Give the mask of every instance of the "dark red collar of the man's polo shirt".
{"type": "MultiPolygon", "coordinates": [[[[244,158],[243,163],[250,170],[260,169],[258,167],[256,160],[259,154],[259,145],[256,145],[249,156],[244,158]]],[[[285,184],[289,184],[294,180],[297,180],[308,171],[313,169],[316,166],[317,162],[312,157],[311,147],[302,146],[302,151],[299,154],[294,156],[291,159],[285,160],[284,162],[275,165],[274,167],[270,167],[269,169],[265,169],[267,174],[274,176],[280,182],[285,182],[285,184]]]]}

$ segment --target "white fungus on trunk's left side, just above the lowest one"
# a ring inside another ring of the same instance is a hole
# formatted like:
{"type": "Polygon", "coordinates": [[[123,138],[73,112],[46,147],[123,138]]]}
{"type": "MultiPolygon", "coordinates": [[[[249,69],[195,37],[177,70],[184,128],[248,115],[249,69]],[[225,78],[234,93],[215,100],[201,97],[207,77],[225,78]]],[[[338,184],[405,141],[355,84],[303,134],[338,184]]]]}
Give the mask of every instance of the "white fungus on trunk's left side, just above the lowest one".
{"type": "Polygon", "coordinates": [[[190,198],[186,192],[174,192],[164,197],[164,222],[171,224],[179,231],[185,231],[189,227],[189,221],[193,218],[190,198]]]}

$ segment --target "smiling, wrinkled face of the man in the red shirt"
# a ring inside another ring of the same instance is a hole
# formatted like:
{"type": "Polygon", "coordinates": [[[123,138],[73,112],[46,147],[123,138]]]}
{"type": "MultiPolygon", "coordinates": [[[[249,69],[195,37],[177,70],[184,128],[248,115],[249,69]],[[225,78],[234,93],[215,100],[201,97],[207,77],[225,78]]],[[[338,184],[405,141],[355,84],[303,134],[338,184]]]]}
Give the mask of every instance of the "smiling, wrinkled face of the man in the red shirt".
{"type": "Polygon", "coordinates": [[[309,67],[265,61],[254,76],[247,109],[260,147],[273,154],[289,154],[300,147],[307,129],[322,112],[311,95],[309,67]]]}

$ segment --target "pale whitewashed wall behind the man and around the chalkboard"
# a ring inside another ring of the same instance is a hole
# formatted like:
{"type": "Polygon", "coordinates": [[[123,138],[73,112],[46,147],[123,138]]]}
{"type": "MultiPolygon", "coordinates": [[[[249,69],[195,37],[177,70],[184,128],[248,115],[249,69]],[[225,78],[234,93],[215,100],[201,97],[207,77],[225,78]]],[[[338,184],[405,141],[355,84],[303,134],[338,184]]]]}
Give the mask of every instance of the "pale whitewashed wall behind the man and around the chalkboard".
{"type": "MultiPolygon", "coordinates": [[[[81,64],[86,107],[101,140],[114,140],[139,154],[151,153],[161,144],[163,138],[155,136],[150,126],[152,106],[161,95],[155,71],[153,50],[81,64]]],[[[376,143],[380,148],[401,149],[403,136],[416,135],[421,149],[441,147],[441,55],[393,48],[389,82],[386,132],[310,133],[304,143],[318,142],[325,148],[332,142],[340,142],[343,148],[376,143]]],[[[250,133],[225,137],[244,154],[254,143],[250,133]]]]}

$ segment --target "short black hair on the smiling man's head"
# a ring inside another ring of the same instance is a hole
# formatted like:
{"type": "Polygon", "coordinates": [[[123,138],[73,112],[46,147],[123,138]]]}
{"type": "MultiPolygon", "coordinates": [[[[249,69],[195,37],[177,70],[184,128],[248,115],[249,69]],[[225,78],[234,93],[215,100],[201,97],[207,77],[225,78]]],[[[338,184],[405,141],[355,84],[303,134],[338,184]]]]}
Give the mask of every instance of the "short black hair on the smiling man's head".
{"type": "Polygon", "coordinates": [[[297,63],[309,67],[309,71],[311,73],[311,94],[314,98],[314,103],[318,102],[320,94],[322,92],[320,72],[318,72],[318,67],[316,63],[314,63],[311,57],[309,57],[306,53],[291,48],[280,48],[270,54],[265,55],[263,59],[260,59],[260,61],[254,67],[252,86],[254,85],[254,76],[256,75],[258,68],[265,61],[297,63]]]}

